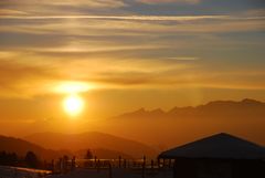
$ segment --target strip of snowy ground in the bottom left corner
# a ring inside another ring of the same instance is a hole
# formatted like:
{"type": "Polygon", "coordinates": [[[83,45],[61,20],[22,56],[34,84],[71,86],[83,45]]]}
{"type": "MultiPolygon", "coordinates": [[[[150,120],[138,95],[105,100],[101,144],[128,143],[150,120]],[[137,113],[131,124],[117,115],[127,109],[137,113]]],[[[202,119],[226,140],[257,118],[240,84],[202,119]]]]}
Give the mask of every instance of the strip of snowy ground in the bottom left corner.
{"type": "Polygon", "coordinates": [[[47,170],[0,166],[0,178],[41,178],[47,174],[47,170]]]}

